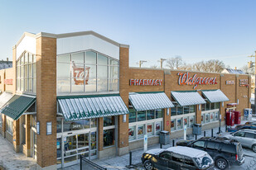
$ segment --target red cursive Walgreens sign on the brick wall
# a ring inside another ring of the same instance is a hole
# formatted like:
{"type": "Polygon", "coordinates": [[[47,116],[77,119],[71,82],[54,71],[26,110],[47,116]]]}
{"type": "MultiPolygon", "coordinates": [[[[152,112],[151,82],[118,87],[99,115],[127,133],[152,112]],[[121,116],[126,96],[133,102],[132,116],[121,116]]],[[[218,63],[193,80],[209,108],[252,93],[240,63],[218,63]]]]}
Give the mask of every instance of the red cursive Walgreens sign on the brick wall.
{"type": "Polygon", "coordinates": [[[194,89],[198,85],[213,85],[217,84],[217,79],[215,78],[202,78],[198,77],[197,74],[194,74],[193,76],[190,77],[190,73],[178,73],[179,80],[178,83],[179,85],[195,85],[194,89]]]}

